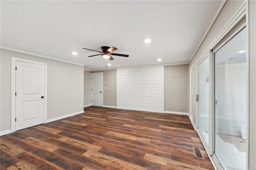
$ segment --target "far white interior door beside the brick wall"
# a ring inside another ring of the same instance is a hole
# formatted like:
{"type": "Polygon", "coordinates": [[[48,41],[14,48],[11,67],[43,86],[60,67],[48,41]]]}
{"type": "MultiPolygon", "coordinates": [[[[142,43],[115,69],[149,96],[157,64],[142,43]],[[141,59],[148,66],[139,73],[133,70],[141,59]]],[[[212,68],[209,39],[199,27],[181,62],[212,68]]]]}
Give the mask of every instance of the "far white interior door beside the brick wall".
{"type": "Polygon", "coordinates": [[[92,105],[102,106],[103,75],[92,75],[92,105]]]}

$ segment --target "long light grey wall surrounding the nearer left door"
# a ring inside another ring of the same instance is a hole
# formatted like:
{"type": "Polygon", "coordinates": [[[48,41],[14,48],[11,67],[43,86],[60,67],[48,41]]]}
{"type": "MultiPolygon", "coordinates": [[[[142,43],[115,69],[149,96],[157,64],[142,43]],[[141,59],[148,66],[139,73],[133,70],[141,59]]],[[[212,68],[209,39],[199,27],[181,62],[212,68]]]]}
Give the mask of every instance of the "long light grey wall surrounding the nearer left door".
{"type": "Polygon", "coordinates": [[[1,120],[0,132],[11,129],[11,59],[12,57],[48,63],[47,119],[83,111],[84,68],[24,53],[0,49],[1,120]]]}

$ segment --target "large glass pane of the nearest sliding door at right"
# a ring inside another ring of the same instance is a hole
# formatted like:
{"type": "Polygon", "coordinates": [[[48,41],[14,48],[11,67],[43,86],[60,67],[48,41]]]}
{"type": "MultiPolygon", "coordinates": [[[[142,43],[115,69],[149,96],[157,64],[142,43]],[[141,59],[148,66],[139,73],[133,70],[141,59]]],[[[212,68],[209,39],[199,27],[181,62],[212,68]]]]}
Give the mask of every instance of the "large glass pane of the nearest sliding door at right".
{"type": "Polygon", "coordinates": [[[215,146],[224,169],[246,169],[246,29],[214,54],[215,146]]]}

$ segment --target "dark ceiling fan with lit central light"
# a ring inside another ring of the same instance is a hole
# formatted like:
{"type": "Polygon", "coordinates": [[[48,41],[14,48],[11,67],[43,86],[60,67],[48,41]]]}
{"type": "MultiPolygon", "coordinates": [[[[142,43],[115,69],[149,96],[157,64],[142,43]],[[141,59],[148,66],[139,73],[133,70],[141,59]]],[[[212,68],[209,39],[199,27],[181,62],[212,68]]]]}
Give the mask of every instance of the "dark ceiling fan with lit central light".
{"type": "MultiPolygon", "coordinates": [[[[83,48],[83,49],[87,49],[87,50],[91,50],[91,51],[96,51],[93,49],[88,49],[88,48],[83,48]]],[[[111,55],[117,55],[117,56],[121,56],[121,57],[129,57],[129,55],[126,54],[117,54],[117,53],[112,53],[113,51],[115,51],[117,48],[116,47],[107,47],[107,46],[102,46],[101,50],[102,51],[96,51],[99,52],[100,54],[96,54],[96,55],[102,55],[103,58],[105,59],[110,59],[113,60],[114,58],[111,55]]],[[[90,55],[88,57],[93,57],[96,55],[90,55]]]]}

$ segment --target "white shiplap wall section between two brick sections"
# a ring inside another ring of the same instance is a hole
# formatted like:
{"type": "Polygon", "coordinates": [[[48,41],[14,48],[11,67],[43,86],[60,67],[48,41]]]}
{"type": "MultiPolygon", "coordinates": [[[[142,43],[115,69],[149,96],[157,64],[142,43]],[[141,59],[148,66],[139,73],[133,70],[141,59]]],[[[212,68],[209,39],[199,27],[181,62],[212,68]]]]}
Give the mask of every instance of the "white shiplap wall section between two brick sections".
{"type": "Polygon", "coordinates": [[[117,108],[164,112],[164,66],[117,68],[117,108]]]}

